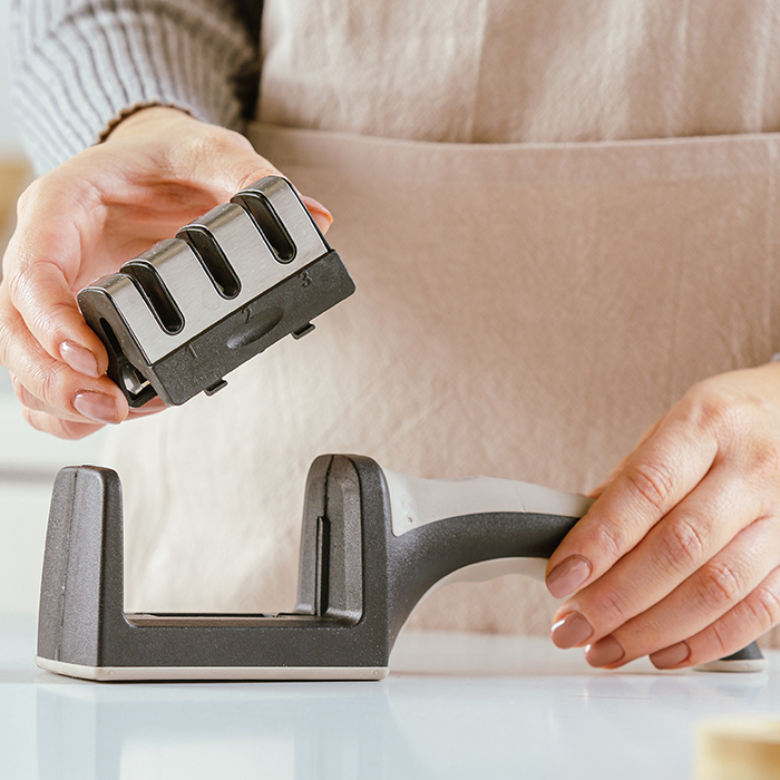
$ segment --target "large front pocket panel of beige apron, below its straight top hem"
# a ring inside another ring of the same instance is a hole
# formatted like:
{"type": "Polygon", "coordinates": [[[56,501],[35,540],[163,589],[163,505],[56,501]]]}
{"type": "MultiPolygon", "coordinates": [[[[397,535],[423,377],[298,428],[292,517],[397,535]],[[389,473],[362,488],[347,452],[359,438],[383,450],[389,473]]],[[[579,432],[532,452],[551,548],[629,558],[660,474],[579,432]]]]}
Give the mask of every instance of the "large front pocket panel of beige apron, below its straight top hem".
{"type": "MultiPolygon", "coordinates": [[[[780,135],[251,137],[333,211],[358,292],[224,392],[134,423],[149,438],[127,486],[128,606],[289,608],[321,452],[586,490],[694,382],[780,347],[780,135]]],[[[505,577],[445,588],[412,620],[543,633],[553,608],[505,577]]]]}

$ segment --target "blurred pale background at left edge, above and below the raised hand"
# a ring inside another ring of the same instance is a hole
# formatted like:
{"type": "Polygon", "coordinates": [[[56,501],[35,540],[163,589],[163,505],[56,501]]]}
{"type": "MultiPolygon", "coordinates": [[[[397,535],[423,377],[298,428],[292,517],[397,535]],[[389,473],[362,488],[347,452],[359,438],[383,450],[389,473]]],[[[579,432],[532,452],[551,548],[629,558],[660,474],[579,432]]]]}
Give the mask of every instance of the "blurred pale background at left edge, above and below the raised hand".
{"type": "MultiPolygon", "coordinates": [[[[16,201],[31,172],[13,124],[8,49],[11,0],[0,0],[0,245],[13,230],[16,201]]],[[[0,367],[0,612],[38,608],[51,484],[61,466],[99,461],[100,436],[71,442],[27,426],[0,367]]]]}

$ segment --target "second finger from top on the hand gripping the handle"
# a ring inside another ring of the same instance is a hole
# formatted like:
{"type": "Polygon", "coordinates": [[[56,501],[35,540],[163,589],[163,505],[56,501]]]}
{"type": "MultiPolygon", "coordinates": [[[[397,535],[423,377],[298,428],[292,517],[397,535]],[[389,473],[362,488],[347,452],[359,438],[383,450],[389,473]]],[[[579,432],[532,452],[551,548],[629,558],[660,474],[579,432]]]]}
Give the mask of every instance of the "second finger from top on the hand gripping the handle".
{"type": "Polygon", "coordinates": [[[573,640],[584,644],[614,633],[664,599],[760,513],[760,500],[744,489],[733,469],[716,466],[640,545],[558,608],[553,642],[571,647],[573,640]],[[577,626],[574,634],[573,624],[577,626]],[[591,633],[585,637],[588,626],[591,633]]]}

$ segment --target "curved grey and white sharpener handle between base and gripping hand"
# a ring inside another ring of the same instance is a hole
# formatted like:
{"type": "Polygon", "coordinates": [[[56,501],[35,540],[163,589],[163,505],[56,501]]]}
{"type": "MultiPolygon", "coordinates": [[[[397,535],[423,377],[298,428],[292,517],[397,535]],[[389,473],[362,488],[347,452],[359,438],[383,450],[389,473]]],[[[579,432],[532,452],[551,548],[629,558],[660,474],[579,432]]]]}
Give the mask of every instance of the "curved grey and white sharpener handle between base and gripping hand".
{"type": "Polygon", "coordinates": [[[382,471],[392,631],[400,631],[422,598],[454,581],[515,572],[543,577],[547,559],[592,504],[510,479],[382,471]]]}

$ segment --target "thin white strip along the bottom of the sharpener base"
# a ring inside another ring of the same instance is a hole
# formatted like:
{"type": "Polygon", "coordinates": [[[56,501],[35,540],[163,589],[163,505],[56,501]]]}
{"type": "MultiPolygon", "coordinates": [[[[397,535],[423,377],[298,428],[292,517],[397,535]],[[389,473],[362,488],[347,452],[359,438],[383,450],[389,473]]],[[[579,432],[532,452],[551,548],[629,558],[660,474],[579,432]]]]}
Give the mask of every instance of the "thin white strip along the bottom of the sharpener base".
{"type": "Polygon", "coordinates": [[[175,680],[383,680],[382,666],[82,666],[36,656],[47,672],[97,682],[163,682],[175,680]]]}

